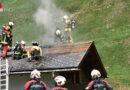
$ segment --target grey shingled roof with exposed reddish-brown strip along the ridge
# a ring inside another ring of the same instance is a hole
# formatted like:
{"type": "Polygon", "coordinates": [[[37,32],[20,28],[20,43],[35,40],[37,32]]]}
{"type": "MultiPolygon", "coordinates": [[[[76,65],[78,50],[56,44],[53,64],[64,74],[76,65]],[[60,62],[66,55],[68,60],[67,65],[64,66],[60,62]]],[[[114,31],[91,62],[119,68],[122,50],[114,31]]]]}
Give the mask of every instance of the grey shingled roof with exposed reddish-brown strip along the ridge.
{"type": "MultiPolygon", "coordinates": [[[[39,69],[43,72],[78,71],[81,64],[86,62],[86,56],[93,42],[82,42],[63,45],[42,46],[43,57],[39,63],[27,62],[27,58],[12,60],[8,57],[9,71],[13,73],[29,72],[39,69]]],[[[10,53],[11,54],[11,53],[10,53]]],[[[100,59],[100,58],[99,58],[100,59]]],[[[101,66],[103,67],[102,63],[101,66]]]]}

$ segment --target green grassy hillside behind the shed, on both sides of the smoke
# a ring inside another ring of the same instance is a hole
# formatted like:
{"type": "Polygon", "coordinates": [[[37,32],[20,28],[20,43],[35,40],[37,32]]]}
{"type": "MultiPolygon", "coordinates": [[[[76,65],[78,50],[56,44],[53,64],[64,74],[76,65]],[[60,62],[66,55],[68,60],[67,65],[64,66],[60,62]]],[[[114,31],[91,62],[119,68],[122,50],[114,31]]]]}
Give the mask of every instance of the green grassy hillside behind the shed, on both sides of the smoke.
{"type": "MultiPolygon", "coordinates": [[[[13,21],[13,42],[38,40],[44,28],[34,14],[40,0],[3,0],[0,27],[13,21]]],[[[130,89],[130,0],[55,0],[76,20],[74,42],[95,41],[114,90],[130,89]]],[[[41,38],[40,38],[41,39],[41,38]]],[[[41,40],[39,40],[41,41],[41,40]]],[[[29,43],[30,44],[30,43],[29,43]]]]}

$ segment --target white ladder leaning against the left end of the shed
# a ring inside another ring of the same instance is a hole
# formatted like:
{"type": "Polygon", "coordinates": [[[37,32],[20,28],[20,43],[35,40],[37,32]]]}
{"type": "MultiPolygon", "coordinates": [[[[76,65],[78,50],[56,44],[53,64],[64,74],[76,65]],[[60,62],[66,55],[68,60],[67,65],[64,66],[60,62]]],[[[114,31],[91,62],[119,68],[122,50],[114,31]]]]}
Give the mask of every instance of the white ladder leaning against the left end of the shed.
{"type": "Polygon", "coordinates": [[[0,59],[0,90],[9,90],[8,59],[0,59]]]}

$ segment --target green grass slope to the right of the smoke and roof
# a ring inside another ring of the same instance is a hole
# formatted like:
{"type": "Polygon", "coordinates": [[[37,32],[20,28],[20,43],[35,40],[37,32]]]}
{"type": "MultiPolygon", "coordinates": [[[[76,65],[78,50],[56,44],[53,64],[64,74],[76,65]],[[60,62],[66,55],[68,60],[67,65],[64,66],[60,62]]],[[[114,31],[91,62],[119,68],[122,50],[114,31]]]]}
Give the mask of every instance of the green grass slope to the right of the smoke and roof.
{"type": "Polygon", "coordinates": [[[76,20],[75,42],[95,41],[114,90],[130,89],[130,1],[56,0],[76,20]],[[78,37],[77,37],[78,36],[78,37]]]}

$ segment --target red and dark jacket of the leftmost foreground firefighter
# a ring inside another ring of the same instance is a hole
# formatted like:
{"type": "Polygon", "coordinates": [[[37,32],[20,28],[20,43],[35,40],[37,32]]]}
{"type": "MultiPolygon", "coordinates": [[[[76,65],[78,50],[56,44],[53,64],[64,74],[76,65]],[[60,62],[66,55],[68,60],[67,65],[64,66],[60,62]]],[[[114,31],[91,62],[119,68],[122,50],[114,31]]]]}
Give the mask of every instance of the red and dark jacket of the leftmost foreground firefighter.
{"type": "Polygon", "coordinates": [[[24,85],[24,90],[48,90],[43,81],[32,79],[24,85]]]}

